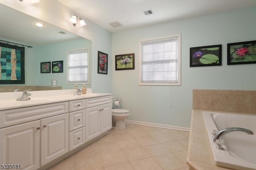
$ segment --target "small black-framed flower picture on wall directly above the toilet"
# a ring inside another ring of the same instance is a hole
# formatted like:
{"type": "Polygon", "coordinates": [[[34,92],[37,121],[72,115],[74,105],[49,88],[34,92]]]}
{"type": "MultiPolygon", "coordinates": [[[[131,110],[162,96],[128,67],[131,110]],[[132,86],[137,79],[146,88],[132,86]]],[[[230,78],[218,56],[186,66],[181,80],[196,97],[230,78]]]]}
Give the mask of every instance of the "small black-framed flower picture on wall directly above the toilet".
{"type": "Polygon", "coordinates": [[[134,53],[116,55],[116,70],[134,69],[134,53]]]}

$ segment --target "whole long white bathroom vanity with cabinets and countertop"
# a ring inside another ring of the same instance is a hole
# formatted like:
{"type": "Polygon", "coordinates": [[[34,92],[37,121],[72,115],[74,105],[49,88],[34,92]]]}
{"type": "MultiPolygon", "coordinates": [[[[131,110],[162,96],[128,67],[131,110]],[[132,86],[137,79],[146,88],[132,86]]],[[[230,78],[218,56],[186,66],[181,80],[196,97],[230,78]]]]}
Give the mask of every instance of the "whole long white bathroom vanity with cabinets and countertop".
{"type": "Polygon", "coordinates": [[[112,128],[112,94],[61,91],[34,91],[28,101],[0,101],[1,164],[45,169],[112,128]]]}

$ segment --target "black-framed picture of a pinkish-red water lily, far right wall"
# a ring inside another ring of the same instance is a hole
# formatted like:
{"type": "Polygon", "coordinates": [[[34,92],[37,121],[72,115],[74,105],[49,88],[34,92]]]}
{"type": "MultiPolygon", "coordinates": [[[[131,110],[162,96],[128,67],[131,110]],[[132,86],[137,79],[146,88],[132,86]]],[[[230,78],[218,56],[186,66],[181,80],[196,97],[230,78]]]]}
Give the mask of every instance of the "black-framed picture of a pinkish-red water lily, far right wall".
{"type": "Polygon", "coordinates": [[[256,41],[228,43],[228,65],[256,63],[256,41]]]}

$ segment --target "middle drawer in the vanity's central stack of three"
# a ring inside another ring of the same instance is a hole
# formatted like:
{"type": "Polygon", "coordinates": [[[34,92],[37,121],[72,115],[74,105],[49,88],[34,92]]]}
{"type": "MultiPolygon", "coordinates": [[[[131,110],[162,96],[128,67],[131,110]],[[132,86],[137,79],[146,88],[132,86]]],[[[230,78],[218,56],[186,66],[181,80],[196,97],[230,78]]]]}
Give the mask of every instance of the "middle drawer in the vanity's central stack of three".
{"type": "Polygon", "coordinates": [[[69,113],[69,131],[85,126],[85,109],[69,113]]]}

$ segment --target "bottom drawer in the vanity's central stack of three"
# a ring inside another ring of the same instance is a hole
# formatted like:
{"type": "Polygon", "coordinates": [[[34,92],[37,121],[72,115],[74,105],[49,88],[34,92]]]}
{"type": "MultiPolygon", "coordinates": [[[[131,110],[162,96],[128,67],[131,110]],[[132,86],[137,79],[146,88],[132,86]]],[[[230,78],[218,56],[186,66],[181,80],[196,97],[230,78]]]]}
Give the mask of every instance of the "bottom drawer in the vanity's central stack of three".
{"type": "Polygon", "coordinates": [[[85,143],[85,127],[69,132],[69,150],[85,143]]]}

